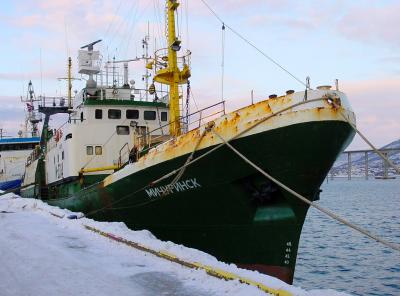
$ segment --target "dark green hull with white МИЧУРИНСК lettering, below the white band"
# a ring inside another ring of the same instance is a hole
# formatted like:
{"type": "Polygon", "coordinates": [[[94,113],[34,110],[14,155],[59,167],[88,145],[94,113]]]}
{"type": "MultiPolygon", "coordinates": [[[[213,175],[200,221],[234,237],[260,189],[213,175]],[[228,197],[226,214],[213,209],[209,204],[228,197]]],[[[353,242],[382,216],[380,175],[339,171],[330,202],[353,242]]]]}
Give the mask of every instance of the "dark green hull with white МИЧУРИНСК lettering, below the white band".
{"type": "MultiPolygon", "coordinates": [[[[329,169],[353,136],[347,123],[321,121],[266,131],[232,144],[276,179],[316,200],[329,169]]],[[[196,152],[195,157],[207,150],[196,152]]],[[[173,177],[141,190],[182,166],[187,157],[165,161],[106,187],[99,183],[46,202],[98,220],[123,221],[135,230],[148,229],[159,239],[291,283],[308,206],[266,180],[226,146],[189,166],[171,194],[163,196],[162,191],[173,177]]]]}

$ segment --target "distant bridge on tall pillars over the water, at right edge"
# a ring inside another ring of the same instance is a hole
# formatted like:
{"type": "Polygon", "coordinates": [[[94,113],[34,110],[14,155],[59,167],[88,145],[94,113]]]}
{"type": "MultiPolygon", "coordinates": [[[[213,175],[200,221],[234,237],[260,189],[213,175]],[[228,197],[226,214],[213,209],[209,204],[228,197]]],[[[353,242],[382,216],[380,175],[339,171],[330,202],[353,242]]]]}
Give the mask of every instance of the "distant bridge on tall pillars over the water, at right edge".
{"type": "MultiPolygon", "coordinates": [[[[379,149],[379,151],[385,156],[389,157],[391,154],[400,152],[400,148],[387,148],[387,149],[379,149]]],[[[347,179],[351,180],[352,177],[352,155],[354,154],[364,154],[364,176],[365,179],[368,180],[369,178],[369,157],[370,154],[376,154],[374,150],[349,150],[344,151],[343,154],[347,154],[347,179]]],[[[389,176],[389,165],[386,161],[381,159],[382,166],[383,166],[383,175],[382,176],[374,176],[376,179],[394,179],[394,176],[389,176]]],[[[331,170],[329,175],[333,179],[335,177],[334,172],[331,170]]]]}

